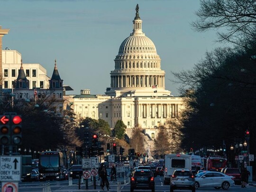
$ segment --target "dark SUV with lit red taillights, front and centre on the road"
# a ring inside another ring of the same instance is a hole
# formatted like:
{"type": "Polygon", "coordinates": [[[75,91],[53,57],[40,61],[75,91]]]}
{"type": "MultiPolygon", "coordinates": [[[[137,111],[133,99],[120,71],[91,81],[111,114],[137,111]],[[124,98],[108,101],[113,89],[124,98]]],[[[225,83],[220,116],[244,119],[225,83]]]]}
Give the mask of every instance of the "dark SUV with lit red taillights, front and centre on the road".
{"type": "Polygon", "coordinates": [[[137,169],[130,177],[130,192],[135,189],[151,190],[155,192],[155,178],[148,169],[137,169]]]}

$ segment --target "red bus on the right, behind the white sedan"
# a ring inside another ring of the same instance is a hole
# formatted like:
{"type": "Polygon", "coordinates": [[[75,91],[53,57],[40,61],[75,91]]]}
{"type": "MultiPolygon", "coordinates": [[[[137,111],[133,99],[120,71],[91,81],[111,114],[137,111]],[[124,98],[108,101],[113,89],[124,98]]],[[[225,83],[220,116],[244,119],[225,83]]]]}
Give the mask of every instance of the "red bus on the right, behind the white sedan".
{"type": "Polygon", "coordinates": [[[222,168],[227,167],[227,158],[222,156],[209,156],[206,160],[206,170],[221,171],[222,168]]]}

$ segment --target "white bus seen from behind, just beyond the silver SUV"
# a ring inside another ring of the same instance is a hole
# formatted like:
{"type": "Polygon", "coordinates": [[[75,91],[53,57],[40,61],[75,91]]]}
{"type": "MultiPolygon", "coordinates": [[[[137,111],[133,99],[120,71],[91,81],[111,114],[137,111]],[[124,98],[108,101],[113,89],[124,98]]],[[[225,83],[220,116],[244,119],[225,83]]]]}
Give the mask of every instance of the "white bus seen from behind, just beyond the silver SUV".
{"type": "Polygon", "coordinates": [[[170,184],[175,169],[191,169],[191,155],[168,154],[165,155],[164,184],[170,184]]]}

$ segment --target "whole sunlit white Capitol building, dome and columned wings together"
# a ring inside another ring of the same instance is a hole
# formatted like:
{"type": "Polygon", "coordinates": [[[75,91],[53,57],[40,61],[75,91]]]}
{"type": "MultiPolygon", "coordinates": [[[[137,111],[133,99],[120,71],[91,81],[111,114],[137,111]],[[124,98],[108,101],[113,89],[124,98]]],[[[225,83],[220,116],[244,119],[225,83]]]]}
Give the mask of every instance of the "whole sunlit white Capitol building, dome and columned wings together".
{"type": "Polygon", "coordinates": [[[165,71],[155,44],[142,31],[138,6],[133,32],[120,45],[115,68],[110,72],[110,87],[105,95],[91,95],[89,89],[71,99],[77,117],[101,118],[114,128],[118,120],[132,128],[140,126],[147,137],[154,139],[157,127],[179,116],[183,98],[165,90],[165,71]]]}

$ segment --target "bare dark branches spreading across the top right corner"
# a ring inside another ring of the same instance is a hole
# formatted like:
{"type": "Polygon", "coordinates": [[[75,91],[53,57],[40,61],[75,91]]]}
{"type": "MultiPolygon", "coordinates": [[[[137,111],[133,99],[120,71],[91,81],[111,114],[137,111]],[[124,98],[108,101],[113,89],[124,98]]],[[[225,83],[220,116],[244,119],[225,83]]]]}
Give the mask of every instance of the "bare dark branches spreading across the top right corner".
{"type": "Polygon", "coordinates": [[[195,13],[198,20],[192,23],[197,31],[223,28],[218,32],[219,41],[247,46],[245,41],[256,39],[255,0],[200,0],[201,7],[195,13]]]}

